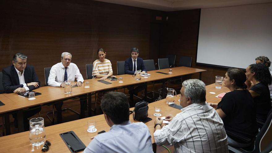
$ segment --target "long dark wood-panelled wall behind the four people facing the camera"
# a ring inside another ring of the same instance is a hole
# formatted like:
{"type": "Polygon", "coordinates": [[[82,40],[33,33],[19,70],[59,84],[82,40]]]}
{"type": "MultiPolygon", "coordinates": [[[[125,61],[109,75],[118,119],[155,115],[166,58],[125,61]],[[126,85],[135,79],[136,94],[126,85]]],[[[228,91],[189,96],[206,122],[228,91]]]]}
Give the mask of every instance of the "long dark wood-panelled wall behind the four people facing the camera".
{"type": "Polygon", "coordinates": [[[116,62],[130,57],[132,47],[149,58],[150,22],[157,12],[164,13],[91,0],[1,1],[0,70],[22,52],[45,84],[44,67],[70,52],[86,79],[85,64],[97,59],[101,47],[117,74],[116,62]]]}

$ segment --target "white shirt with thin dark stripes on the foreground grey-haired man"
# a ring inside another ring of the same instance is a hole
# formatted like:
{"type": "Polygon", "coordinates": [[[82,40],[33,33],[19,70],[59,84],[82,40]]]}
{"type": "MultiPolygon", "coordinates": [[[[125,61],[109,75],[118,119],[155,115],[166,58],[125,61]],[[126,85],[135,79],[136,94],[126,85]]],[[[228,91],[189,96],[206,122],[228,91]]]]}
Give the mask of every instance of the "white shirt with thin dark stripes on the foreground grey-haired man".
{"type": "Polygon", "coordinates": [[[154,132],[157,145],[174,145],[174,152],[228,152],[223,121],[208,104],[182,108],[168,125],[154,132]]]}

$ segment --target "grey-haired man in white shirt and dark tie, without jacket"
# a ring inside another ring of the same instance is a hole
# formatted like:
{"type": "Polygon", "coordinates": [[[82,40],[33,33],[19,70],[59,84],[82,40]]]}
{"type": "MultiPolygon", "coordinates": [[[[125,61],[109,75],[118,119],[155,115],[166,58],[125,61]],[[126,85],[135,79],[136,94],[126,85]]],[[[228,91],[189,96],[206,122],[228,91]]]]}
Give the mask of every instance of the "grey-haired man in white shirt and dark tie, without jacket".
{"type": "MultiPolygon", "coordinates": [[[[81,86],[84,79],[79,72],[79,68],[71,63],[72,54],[68,52],[63,52],[61,56],[61,62],[53,65],[50,70],[48,85],[53,87],[64,87],[64,81],[68,80],[73,82],[75,79],[77,83],[75,85],[81,86]]],[[[87,108],[87,97],[86,95],[80,96],[80,118],[85,117],[84,111],[87,108]],[[83,98],[85,96],[85,98],[83,98]]],[[[63,101],[54,104],[57,109],[57,123],[62,122],[62,104],[63,101]]]]}

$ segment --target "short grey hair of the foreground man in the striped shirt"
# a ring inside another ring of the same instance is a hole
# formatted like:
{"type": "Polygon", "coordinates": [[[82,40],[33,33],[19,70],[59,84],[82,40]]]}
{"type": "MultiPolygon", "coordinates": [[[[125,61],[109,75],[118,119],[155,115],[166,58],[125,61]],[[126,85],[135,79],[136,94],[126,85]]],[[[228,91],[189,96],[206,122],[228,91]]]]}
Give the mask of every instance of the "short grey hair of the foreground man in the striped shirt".
{"type": "Polygon", "coordinates": [[[192,103],[203,103],[206,101],[206,85],[198,79],[185,80],[182,83],[184,87],[184,96],[190,97],[192,103]]]}

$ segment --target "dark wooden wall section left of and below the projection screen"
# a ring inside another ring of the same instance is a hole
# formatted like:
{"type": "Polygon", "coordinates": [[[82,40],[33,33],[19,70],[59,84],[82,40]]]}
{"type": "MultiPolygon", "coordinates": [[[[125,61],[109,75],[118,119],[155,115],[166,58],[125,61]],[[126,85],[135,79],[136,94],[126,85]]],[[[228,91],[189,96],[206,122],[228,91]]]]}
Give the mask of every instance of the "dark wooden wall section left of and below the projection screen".
{"type": "MultiPolygon", "coordinates": [[[[181,56],[193,57],[192,67],[207,70],[202,73],[204,83],[215,83],[215,76],[225,76],[227,69],[196,65],[196,51],[198,40],[198,24],[200,10],[186,10],[167,12],[168,21],[163,28],[163,38],[161,42],[160,58],[167,54],[176,54],[176,64],[178,65],[181,56]]],[[[195,74],[193,78],[198,79],[195,74]]]]}

